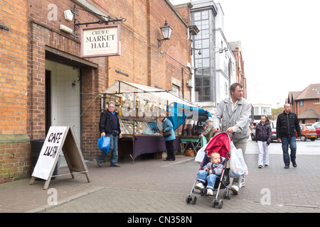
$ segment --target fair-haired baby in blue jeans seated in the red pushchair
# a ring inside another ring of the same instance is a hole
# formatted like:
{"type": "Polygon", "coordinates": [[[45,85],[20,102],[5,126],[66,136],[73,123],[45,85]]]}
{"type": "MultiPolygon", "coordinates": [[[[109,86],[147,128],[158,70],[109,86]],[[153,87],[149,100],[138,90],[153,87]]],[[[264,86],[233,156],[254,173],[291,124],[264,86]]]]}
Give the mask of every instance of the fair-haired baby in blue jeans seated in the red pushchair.
{"type": "Polygon", "coordinates": [[[207,195],[213,195],[213,189],[215,188],[215,180],[220,177],[223,172],[223,165],[225,164],[225,157],[220,157],[219,153],[211,153],[210,162],[207,165],[201,167],[202,170],[198,171],[195,189],[204,190],[203,184],[207,184],[207,195]]]}

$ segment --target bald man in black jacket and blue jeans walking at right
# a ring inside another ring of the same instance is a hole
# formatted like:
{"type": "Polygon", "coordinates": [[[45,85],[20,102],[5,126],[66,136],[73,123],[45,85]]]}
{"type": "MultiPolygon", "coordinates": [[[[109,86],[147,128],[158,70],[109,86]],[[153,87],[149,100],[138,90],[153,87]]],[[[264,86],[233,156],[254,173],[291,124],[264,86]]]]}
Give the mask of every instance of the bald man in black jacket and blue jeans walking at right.
{"type": "Polygon", "coordinates": [[[297,115],[290,112],[290,104],[284,104],[284,112],[277,118],[277,141],[282,142],[282,152],[284,160],[284,169],[288,169],[290,165],[290,159],[293,167],[297,167],[296,153],[296,132],[297,139],[301,138],[301,131],[299,126],[299,119],[297,115]],[[289,156],[290,145],[290,156],[289,156]]]}

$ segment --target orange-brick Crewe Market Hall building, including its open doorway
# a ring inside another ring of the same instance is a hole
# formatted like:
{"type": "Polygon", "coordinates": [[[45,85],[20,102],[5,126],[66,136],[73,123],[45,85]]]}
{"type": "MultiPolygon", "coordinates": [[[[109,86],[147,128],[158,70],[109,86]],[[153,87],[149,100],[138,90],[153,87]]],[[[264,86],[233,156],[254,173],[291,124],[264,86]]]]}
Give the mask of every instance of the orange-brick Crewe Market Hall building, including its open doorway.
{"type": "Polygon", "coordinates": [[[85,159],[96,157],[100,93],[116,80],[174,86],[181,96],[187,90],[188,23],[169,0],[8,0],[0,5],[0,25],[8,28],[0,29],[0,183],[30,176],[30,141],[45,138],[50,126],[73,126],[85,159]],[[80,57],[80,38],[60,30],[60,25],[74,30],[64,11],[75,6],[78,23],[126,19],[121,55],[80,57]],[[159,47],[165,21],[173,33],[159,47]]]}

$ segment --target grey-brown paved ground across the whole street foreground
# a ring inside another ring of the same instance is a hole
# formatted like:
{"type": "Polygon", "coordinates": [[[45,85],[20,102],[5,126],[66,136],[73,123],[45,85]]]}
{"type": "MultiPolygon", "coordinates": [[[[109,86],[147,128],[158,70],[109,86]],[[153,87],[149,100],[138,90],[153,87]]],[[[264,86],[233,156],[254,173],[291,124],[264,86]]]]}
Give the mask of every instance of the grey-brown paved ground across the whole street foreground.
{"type": "MultiPolygon", "coordinates": [[[[253,142],[253,141],[251,141],[253,142]]],[[[0,184],[0,213],[320,213],[320,153],[297,155],[297,168],[284,169],[282,155],[270,154],[270,165],[257,168],[257,154],[246,153],[249,175],[238,195],[213,208],[215,196],[197,196],[187,204],[200,165],[194,157],[139,159],[97,167],[86,162],[90,180],[60,167],[47,190],[43,181],[30,179],[0,184]]],[[[188,219],[186,219],[188,220],[188,219]]]]}

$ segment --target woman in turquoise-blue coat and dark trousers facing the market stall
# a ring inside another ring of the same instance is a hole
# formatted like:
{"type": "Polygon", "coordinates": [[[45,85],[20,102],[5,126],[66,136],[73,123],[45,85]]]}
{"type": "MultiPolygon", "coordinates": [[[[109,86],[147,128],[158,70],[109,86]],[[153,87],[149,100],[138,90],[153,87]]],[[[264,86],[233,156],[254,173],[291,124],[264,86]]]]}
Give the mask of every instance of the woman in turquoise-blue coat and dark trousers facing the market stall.
{"type": "Polygon", "coordinates": [[[164,114],[159,116],[159,120],[162,122],[164,142],[166,143],[166,159],[164,161],[174,161],[176,160],[176,154],[174,152],[174,140],[176,139],[176,135],[174,135],[174,126],[164,114]],[[169,131],[171,132],[171,135],[165,136],[165,133],[169,131]]]}

